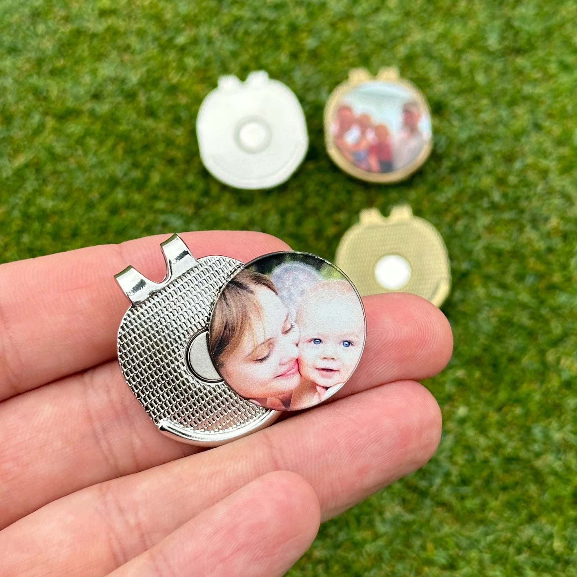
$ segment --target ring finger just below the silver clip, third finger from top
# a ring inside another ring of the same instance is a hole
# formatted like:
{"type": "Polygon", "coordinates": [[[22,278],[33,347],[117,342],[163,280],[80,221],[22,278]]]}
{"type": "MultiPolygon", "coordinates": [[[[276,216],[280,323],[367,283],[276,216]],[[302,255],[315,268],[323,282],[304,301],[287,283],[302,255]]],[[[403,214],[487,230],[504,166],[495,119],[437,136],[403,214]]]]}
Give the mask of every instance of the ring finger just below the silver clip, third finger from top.
{"type": "Polygon", "coordinates": [[[0,533],[3,565],[10,577],[106,575],[274,470],[304,477],[328,519],[422,466],[440,431],[439,407],[422,385],[376,387],[54,501],[0,533]]]}

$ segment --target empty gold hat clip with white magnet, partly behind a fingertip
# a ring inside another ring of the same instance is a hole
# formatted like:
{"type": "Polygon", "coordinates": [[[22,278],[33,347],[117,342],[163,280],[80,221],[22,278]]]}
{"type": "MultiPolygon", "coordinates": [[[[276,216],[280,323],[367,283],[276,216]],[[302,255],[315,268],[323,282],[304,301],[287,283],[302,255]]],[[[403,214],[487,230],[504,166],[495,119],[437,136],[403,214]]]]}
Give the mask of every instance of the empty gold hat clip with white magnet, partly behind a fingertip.
{"type": "Polygon", "coordinates": [[[359,223],[344,233],[335,264],[363,296],[402,291],[441,306],[451,290],[443,238],[408,204],[394,207],[389,218],[377,208],[362,210],[359,223]]]}

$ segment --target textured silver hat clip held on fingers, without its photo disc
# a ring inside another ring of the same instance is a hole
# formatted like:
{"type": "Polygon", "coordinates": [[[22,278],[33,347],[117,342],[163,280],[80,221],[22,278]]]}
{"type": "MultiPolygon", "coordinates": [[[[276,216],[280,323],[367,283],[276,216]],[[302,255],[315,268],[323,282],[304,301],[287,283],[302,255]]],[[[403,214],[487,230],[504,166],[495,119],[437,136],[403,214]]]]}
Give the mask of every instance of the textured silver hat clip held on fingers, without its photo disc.
{"type": "Polygon", "coordinates": [[[270,425],[279,411],[243,399],[216,372],[207,346],[213,303],[243,263],[194,258],[178,235],[163,242],[167,275],[133,267],[115,276],[131,306],[118,329],[118,361],[138,402],[168,436],[212,447],[270,425]]]}

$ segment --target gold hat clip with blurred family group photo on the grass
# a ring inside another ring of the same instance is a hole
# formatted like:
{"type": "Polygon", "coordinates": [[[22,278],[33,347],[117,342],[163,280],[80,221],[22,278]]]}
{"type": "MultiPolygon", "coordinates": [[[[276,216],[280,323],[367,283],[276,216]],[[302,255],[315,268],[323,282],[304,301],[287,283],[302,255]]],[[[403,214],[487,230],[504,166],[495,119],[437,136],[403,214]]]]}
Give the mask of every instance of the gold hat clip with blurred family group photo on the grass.
{"type": "Polygon", "coordinates": [[[377,76],[364,68],[351,70],[327,100],[324,129],[331,159],[369,182],[408,178],[433,148],[429,104],[394,68],[377,76]]]}

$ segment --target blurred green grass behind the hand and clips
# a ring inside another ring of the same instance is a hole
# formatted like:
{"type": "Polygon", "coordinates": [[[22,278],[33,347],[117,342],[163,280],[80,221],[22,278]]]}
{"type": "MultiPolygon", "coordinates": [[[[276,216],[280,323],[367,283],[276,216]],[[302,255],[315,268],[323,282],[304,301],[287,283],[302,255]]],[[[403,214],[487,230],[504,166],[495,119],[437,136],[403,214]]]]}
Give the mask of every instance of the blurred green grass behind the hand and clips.
{"type": "Polygon", "coordinates": [[[332,258],[362,208],[409,201],[452,260],[455,354],[427,383],[443,439],[290,575],[577,575],[576,22],[574,0],[0,0],[0,260],[208,228],[332,258]],[[327,158],[323,106],[355,66],[429,99],[434,151],[407,182],[327,158]],[[257,193],[210,177],[194,132],[218,76],[255,69],[310,134],[257,193]]]}

